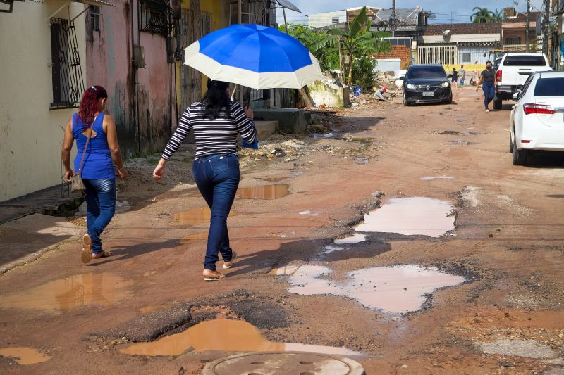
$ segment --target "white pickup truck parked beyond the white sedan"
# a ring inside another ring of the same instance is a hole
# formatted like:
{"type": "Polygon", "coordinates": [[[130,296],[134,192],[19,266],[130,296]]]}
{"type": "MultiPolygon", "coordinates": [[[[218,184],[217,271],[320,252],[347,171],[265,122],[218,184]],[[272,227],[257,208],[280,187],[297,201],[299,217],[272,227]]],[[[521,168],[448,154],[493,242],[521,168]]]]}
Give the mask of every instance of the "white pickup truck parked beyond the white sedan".
{"type": "Polygon", "coordinates": [[[544,53],[507,53],[496,71],[496,99],[494,108],[501,109],[502,101],[513,99],[533,72],[552,70],[544,53]]]}

